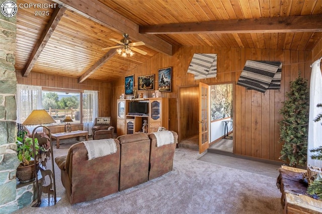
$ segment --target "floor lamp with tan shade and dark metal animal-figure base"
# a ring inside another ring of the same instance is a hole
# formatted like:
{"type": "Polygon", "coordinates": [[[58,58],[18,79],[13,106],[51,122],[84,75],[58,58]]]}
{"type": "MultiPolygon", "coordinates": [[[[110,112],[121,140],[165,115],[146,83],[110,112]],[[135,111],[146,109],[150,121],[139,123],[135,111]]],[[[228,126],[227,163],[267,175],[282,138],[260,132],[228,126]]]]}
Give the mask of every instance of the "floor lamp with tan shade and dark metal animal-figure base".
{"type": "MultiPolygon", "coordinates": [[[[36,148],[35,148],[35,131],[39,127],[43,127],[47,129],[49,132],[49,141],[50,141],[50,154],[51,154],[51,167],[52,167],[52,180],[53,185],[52,188],[50,188],[50,191],[48,192],[48,200],[47,199],[41,199],[41,193],[42,191],[39,191],[39,184],[38,184],[38,175],[37,175],[37,164],[35,164],[35,171],[36,171],[36,187],[37,187],[37,203],[33,204],[33,207],[45,207],[45,206],[52,206],[55,205],[60,198],[56,197],[56,183],[55,183],[55,170],[54,170],[54,156],[53,156],[53,150],[52,150],[52,142],[51,142],[51,132],[50,129],[46,126],[43,126],[41,124],[52,124],[56,123],[52,117],[46,112],[46,110],[33,110],[32,113],[28,116],[28,118],[22,123],[22,125],[40,125],[37,126],[33,132],[32,132],[32,142],[33,142],[33,150],[34,150],[34,158],[36,161],[36,148]],[[53,200],[50,201],[50,194],[53,195],[53,200]]],[[[37,161],[36,161],[37,163],[37,161]]],[[[43,179],[45,179],[43,177],[43,179]]]]}

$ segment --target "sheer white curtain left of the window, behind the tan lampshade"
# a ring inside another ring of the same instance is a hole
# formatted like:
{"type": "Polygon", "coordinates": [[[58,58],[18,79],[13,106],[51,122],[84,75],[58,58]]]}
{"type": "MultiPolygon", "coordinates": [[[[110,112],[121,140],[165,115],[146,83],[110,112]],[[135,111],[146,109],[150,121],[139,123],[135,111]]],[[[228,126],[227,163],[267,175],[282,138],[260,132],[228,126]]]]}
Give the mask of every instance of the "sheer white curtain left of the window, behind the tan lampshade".
{"type": "MultiPolygon", "coordinates": [[[[17,123],[23,123],[33,110],[42,109],[41,86],[17,84],[17,123]]],[[[26,126],[32,132],[36,126],[26,126]]],[[[42,128],[37,129],[42,132],[42,128]]]]}

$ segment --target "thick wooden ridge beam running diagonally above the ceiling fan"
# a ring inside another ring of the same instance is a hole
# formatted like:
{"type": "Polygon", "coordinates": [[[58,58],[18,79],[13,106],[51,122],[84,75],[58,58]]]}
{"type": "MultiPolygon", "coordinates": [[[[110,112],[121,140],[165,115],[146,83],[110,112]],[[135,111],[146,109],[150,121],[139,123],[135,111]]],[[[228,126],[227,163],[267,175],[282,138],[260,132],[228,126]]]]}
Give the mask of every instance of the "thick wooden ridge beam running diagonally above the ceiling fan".
{"type": "Polygon", "coordinates": [[[138,33],[139,26],[131,20],[121,16],[99,1],[88,0],[53,0],[57,4],[63,4],[69,10],[93,20],[120,35],[129,34],[130,38],[142,41],[148,48],[172,56],[172,45],[157,36],[146,36],[138,33]]]}

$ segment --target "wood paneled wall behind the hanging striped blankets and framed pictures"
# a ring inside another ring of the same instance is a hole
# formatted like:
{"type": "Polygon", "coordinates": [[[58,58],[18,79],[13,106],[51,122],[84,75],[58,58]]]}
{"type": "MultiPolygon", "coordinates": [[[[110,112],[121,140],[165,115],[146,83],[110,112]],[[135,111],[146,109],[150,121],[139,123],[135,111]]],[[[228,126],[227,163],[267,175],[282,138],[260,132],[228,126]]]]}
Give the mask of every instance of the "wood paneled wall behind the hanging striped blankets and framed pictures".
{"type": "MultiPolygon", "coordinates": [[[[289,91],[290,81],[298,76],[298,71],[305,78],[310,77],[311,53],[304,51],[256,49],[256,48],[213,48],[213,47],[175,47],[173,56],[157,54],[146,63],[137,67],[128,74],[137,77],[145,74],[155,74],[157,70],[165,67],[173,67],[172,92],[162,93],[169,97],[170,102],[169,129],[178,132],[181,122],[178,114],[179,87],[197,85],[199,81],[207,84],[219,82],[236,82],[241,70],[248,59],[281,61],[282,82],[280,90],[269,90],[265,94],[254,90],[246,90],[235,85],[234,91],[234,153],[239,155],[278,160],[281,144],[279,139],[278,122],[281,115],[278,113],[285,100],[285,92],[289,91]],[[187,74],[187,69],[194,53],[217,53],[217,78],[195,81],[192,74],[187,74]],[[176,106],[173,106],[176,104],[176,106]]],[[[116,115],[116,99],[124,93],[124,78],[113,83],[112,115],[116,115]]],[[[115,117],[113,123],[116,123],[115,117]]],[[[178,134],[180,136],[186,133],[178,134]]]]}

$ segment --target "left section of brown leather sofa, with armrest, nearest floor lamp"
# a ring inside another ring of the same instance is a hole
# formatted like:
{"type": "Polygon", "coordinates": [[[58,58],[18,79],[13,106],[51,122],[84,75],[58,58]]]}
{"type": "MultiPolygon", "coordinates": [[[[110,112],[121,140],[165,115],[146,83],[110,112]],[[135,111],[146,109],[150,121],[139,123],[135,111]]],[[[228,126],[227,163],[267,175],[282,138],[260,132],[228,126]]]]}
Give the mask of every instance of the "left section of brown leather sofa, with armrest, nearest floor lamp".
{"type": "Polygon", "coordinates": [[[117,152],[89,160],[83,142],[72,145],[67,156],[55,158],[61,170],[61,182],[70,204],[89,201],[115,193],[119,189],[120,144],[117,152]]]}

